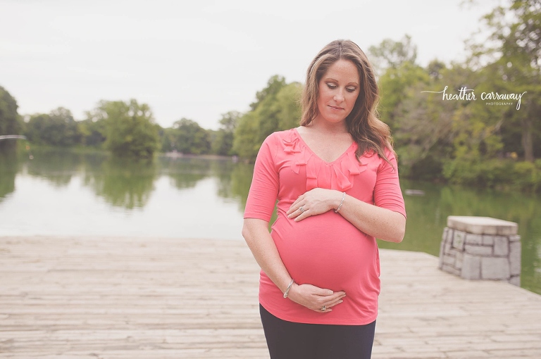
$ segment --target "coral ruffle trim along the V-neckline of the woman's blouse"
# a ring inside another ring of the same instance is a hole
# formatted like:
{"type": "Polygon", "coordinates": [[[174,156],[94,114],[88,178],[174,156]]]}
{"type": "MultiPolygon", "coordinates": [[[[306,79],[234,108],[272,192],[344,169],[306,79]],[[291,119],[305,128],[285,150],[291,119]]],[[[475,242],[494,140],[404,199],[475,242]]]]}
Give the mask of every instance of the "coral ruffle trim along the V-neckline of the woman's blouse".
{"type": "Polygon", "coordinates": [[[321,166],[323,165],[331,167],[331,189],[340,191],[351,189],[354,184],[354,176],[366,170],[366,163],[359,163],[355,151],[352,151],[351,148],[347,149],[347,153],[340,156],[339,160],[325,163],[307,148],[299,136],[296,130],[291,130],[289,136],[285,136],[282,141],[284,143],[284,152],[293,154],[292,171],[298,175],[301,166],[306,166],[306,191],[319,187],[318,175],[320,175],[321,166]]]}

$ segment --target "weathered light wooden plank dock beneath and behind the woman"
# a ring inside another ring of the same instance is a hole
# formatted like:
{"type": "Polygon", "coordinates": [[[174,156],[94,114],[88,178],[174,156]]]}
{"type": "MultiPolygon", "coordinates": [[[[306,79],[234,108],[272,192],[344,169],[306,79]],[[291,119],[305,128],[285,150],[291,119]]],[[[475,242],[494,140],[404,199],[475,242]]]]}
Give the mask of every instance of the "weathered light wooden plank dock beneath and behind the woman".
{"type": "MultiPolygon", "coordinates": [[[[381,251],[373,358],[541,358],[541,296],[381,251]]],[[[244,241],[0,237],[0,358],[268,358],[244,241]]]]}

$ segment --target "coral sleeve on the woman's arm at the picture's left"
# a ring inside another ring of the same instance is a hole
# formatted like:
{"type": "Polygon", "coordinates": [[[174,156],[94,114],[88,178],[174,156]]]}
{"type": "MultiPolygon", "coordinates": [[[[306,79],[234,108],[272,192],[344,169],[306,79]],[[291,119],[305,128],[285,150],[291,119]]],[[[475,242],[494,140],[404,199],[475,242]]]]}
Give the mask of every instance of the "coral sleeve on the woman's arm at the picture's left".
{"type": "Polygon", "coordinates": [[[270,217],[273,215],[280,185],[278,170],[275,166],[275,156],[278,151],[275,137],[275,134],[270,134],[261,144],[261,149],[257,154],[244,218],[258,218],[270,222],[270,217]]]}

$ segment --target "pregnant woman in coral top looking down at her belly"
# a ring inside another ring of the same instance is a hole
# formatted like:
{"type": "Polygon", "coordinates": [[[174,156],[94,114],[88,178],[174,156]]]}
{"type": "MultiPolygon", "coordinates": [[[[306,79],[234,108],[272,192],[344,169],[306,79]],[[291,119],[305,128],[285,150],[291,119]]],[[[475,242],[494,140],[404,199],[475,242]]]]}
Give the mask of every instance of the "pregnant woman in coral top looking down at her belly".
{"type": "Polygon", "coordinates": [[[261,145],[242,235],[261,266],[270,358],[371,357],[380,293],[375,238],[400,242],[406,227],[378,99],[359,46],[331,42],[306,73],[300,126],[261,145]]]}

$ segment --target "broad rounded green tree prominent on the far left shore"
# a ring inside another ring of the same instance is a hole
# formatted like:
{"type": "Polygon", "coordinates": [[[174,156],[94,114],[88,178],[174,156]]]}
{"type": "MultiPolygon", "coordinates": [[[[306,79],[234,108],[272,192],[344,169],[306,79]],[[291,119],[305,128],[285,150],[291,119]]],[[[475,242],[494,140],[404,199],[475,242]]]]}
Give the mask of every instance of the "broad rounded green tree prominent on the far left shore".
{"type": "Polygon", "coordinates": [[[115,156],[150,158],[158,148],[158,125],[146,103],[101,101],[92,116],[106,120],[105,147],[115,156]]]}

